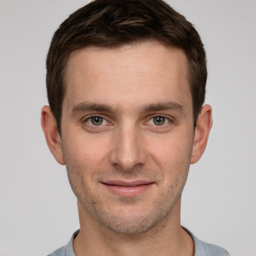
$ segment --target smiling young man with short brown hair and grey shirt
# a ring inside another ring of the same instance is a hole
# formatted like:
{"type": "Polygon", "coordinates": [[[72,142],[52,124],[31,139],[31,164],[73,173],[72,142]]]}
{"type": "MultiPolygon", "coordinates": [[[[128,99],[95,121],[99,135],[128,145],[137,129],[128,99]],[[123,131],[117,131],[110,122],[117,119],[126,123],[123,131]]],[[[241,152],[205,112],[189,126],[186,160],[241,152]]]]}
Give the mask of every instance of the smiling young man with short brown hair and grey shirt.
{"type": "Polygon", "coordinates": [[[50,255],[229,255],[180,225],[212,125],[196,30],[161,0],[95,0],[56,30],[41,123],[80,229],[50,255]]]}

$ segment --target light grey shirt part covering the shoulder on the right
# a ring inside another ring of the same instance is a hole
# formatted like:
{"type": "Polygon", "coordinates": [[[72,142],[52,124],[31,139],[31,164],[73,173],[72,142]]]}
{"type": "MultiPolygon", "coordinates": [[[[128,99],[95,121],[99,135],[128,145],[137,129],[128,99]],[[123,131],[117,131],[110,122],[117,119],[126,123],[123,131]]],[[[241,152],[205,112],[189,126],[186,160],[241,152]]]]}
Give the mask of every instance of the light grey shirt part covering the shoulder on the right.
{"type": "Polygon", "coordinates": [[[188,229],[184,228],[193,238],[194,256],[230,256],[230,254],[222,247],[203,242],[196,238],[188,229]]]}

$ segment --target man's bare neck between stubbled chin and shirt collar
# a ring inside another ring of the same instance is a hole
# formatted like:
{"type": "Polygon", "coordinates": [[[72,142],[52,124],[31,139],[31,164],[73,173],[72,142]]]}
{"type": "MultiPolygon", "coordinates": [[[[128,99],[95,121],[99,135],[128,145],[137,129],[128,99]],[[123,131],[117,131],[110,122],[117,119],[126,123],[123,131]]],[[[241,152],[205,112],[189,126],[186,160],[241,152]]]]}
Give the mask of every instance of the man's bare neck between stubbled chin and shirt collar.
{"type": "Polygon", "coordinates": [[[139,234],[117,233],[100,225],[84,212],[78,202],[80,231],[73,240],[76,256],[192,256],[193,240],[180,226],[180,199],[167,217],[150,230],[139,234]],[[85,214],[84,214],[85,213],[85,214]]]}

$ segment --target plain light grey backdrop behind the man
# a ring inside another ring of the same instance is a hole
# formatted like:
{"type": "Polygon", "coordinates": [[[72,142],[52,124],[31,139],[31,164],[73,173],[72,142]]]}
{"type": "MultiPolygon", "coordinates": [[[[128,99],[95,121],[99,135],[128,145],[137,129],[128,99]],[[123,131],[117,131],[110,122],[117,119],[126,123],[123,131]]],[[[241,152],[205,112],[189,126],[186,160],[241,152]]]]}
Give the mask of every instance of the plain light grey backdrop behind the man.
{"type": "MultiPolygon", "coordinates": [[[[65,167],[44,141],[45,56],[86,0],[0,0],[0,256],[46,255],[79,227],[65,167]]],[[[190,167],[181,224],[233,256],[256,255],[256,1],[170,0],[208,59],[213,127],[190,167]]]]}

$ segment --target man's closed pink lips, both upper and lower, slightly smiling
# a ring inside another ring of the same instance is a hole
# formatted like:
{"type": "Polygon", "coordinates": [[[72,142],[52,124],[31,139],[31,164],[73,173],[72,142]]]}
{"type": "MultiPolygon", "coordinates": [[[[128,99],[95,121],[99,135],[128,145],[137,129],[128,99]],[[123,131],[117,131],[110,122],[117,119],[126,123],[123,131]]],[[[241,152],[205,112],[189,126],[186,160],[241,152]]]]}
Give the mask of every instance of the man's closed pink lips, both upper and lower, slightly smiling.
{"type": "Polygon", "coordinates": [[[108,180],[101,182],[110,192],[120,196],[136,196],[149,189],[154,182],[146,180],[108,180]]]}

